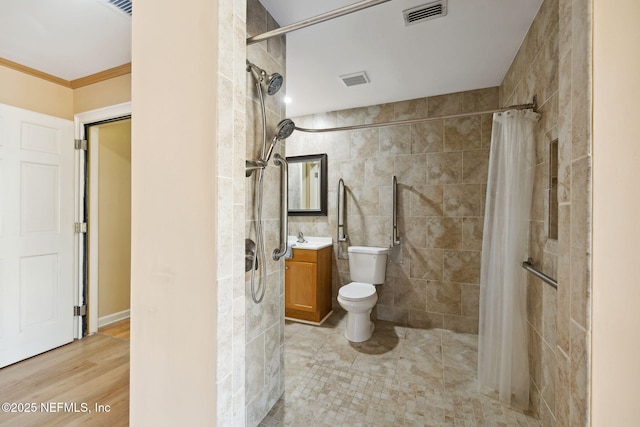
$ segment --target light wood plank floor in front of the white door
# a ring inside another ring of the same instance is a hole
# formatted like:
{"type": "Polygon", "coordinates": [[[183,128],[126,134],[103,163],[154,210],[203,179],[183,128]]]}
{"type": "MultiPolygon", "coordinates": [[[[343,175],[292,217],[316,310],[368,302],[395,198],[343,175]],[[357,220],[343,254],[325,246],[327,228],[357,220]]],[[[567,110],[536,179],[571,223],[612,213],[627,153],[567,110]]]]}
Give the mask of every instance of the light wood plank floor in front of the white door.
{"type": "Polygon", "coordinates": [[[0,411],[0,426],[127,426],[129,320],[0,369],[4,402],[23,412],[0,411]]]}

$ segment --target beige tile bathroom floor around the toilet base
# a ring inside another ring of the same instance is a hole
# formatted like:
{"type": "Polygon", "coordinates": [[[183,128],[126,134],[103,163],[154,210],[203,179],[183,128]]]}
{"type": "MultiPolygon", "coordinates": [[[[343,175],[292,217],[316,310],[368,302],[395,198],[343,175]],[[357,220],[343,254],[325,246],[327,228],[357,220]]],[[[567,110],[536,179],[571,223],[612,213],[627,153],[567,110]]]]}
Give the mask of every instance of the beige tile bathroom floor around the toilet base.
{"type": "Polygon", "coordinates": [[[354,344],[345,321],[286,322],[286,391],[260,426],[540,426],[475,391],[477,335],[377,321],[354,344]]]}

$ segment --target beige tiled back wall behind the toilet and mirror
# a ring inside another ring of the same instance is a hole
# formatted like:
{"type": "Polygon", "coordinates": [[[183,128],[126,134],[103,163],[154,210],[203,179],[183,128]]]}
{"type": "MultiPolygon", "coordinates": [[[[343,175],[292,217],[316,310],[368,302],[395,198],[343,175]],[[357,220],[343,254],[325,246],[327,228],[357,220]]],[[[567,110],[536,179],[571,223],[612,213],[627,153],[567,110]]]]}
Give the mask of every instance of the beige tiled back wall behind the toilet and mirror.
{"type": "MultiPolygon", "coordinates": [[[[491,110],[498,88],[297,117],[309,128],[491,110]]],[[[388,247],[391,182],[398,180],[402,264],[378,287],[378,319],[416,327],[478,331],[480,251],[491,114],[332,133],[294,132],[287,156],[327,153],[328,216],[290,217],[289,233],[336,241],[337,186],[347,189],[349,245],[388,247]]],[[[333,302],[350,282],[334,245],[333,302]]],[[[346,247],[344,248],[346,250],[346,247]]]]}

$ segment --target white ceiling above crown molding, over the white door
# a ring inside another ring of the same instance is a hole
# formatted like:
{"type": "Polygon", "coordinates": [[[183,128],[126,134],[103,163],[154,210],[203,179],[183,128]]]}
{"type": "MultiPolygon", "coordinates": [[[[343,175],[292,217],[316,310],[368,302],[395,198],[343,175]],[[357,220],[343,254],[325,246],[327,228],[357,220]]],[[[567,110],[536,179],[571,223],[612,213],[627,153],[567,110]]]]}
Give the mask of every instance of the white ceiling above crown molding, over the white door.
{"type": "Polygon", "coordinates": [[[108,0],[0,0],[0,58],[75,80],[131,62],[131,16],[108,0]]]}

